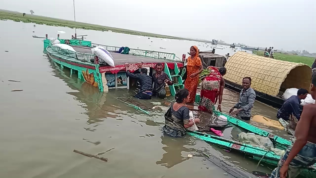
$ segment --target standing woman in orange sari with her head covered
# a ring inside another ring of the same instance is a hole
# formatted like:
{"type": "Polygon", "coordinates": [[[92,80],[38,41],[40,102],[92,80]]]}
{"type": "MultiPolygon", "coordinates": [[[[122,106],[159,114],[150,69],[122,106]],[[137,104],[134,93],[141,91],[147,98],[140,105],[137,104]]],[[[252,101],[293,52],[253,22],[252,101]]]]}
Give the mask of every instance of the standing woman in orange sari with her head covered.
{"type": "Polygon", "coordinates": [[[198,57],[198,49],[196,46],[191,46],[190,55],[187,63],[187,78],[185,79],[184,87],[190,92],[190,100],[188,103],[194,103],[197,93],[197,84],[199,74],[203,71],[201,59],[198,57]]]}

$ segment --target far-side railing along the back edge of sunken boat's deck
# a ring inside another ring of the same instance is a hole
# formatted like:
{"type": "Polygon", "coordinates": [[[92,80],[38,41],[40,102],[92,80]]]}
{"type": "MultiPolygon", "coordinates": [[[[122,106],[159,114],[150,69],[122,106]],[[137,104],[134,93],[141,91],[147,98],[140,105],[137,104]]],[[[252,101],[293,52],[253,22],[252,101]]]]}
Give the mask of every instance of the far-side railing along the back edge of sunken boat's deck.
{"type": "MultiPolygon", "coordinates": [[[[96,43],[91,43],[92,47],[101,46],[105,48],[108,51],[119,51],[121,47],[115,47],[115,46],[106,46],[96,43]]],[[[137,55],[142,57],[149,57],[154,59],[163,59],[163,60],[169,60],[169,61],[180,61],[180,59],[173,53],[165,53],[165,52],[157,52],[157,51],[148,51],[143,49],[132,49],[130,48],[130,54],[131,55],[137,55]],[[179,60],[177,60],[178,58],[179,60]]]]}

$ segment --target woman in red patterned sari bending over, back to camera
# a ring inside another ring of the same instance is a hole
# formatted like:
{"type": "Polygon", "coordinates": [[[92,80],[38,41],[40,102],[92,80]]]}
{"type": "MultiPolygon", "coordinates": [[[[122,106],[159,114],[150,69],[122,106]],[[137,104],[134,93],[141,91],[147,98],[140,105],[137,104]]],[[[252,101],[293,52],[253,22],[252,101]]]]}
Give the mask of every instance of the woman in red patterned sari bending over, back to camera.
{"type": "Polygon", "coordinates": [[[198,108],[201,111],[213,113],[213,106],[218,99],[219,111],[222,111],[222,99],[225,81],[223,76],[226,74],[226,68],[209,66],[207,69],[211,71],[210,75],[202,81],[201,101],[198,108]]]}

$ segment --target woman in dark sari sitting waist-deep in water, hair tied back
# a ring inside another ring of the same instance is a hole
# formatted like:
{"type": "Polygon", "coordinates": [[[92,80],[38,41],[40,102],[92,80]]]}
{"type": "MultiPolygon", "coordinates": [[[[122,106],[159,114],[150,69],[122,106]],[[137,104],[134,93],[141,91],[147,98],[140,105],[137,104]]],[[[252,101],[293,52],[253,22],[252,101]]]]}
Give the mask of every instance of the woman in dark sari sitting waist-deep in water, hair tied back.
{"type": "Polygon", "coordinates": [[[185,106],[190,99],[188,89],[180,89],[174,97],[176,102],[171,105],[165,114],[165,126],[162,131],[172,137],[184,137],[187,128],[199,123],[200,119],[189,121],[189,108],[185,106]]]}

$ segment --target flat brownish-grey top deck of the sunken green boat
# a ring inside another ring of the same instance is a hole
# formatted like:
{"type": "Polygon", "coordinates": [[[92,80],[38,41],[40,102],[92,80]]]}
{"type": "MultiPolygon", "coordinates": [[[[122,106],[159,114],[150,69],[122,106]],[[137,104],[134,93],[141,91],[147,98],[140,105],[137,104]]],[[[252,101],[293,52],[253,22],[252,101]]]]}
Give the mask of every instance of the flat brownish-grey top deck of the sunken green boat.
{"type": "MultiPolygon", "coordinates": [[[[72,47],[79,53],[92,54],[90,47],[83,47],[83,46],[72,46],[72,47]]],[[[120,53],[115,53],[115,52],[110,52],[110,53],[113,56],[115,65],[122,65],[125,63],[133,64],[133,63],[139,63],[139,62],[145,62],[145,63],[170,62],[170,60],[154,59],[154,58],[142,57],[142,56],[131,55],[131,54],[120,54],[120,53]]],[[[181,62],[181,61],[174,61],[174,62],[181,62]]]]}

